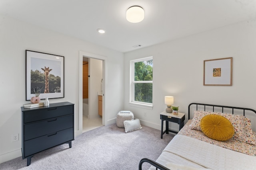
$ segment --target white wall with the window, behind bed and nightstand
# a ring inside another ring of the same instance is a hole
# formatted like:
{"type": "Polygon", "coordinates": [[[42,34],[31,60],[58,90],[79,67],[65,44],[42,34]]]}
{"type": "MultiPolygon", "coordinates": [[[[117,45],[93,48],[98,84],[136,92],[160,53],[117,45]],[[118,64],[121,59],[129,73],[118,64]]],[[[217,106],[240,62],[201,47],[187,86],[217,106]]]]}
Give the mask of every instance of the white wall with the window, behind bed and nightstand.
{"type": "MultiPolygon", "coordinates": [[[[256,109],[255,45],[254,19],[125,53],[124,109],[156,129],[161,125],[159,114],[166,108],[164,96],[174,96],[173,105],[186,113],[186,119],[192,102],[256,109]],[[149,56],[154,62],[152,110],[129,105],[129,62],[149,56]],[[233,57],[233,85],[203,86],[204,60],[226,57],[233,57]]],[[[255,117],[252,124],[256,131],[255,117]]],[[[172,123],[170,128],[177,131],[178,125],[172,123]]]]}

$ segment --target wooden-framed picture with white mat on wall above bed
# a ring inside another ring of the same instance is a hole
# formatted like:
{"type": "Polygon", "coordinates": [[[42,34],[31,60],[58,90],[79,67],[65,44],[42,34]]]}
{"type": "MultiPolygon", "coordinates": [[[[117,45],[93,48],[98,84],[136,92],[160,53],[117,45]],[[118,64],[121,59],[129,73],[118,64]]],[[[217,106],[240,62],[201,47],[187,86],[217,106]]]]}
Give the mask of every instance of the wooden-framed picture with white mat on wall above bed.
{"type": "Polygon", "coordinates": [[[232,60],[204,60],[204,86],[232,86],[232,60]]]}

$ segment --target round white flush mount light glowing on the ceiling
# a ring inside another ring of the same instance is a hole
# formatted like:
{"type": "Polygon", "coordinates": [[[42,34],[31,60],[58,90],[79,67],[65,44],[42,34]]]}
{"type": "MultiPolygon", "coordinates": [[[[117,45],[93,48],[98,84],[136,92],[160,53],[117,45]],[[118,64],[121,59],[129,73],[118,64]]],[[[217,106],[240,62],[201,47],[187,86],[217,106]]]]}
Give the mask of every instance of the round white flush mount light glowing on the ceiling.
{"type": "Polygon", "coordinates": [[[132,23],[140,22],[144,19],[144,10],[140,6],[131,6],[126,11],[126,20],[132,23]]]}

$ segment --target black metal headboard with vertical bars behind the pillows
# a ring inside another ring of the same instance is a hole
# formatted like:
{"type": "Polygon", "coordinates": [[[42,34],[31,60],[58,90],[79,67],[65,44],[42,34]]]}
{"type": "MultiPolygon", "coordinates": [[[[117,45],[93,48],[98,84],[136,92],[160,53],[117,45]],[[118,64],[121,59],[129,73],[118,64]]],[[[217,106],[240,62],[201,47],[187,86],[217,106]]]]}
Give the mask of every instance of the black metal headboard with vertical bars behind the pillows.
{"type": "MultiPolygon", "coordinates": [[[[214,111],[216,112],[222,112],[222,113],[236,113],[236,114],[242,114],[246,116],[247,111],[250,111],[250,113],[254,112],[256,114],[256,110],[244,108],[244,107],[233,107],[233,106],[221,106],[221,105],[214,105],[214,104],[201,104],[201,103],[191,103],[188,105],[188,119],[190,119],[190,111],[191,107],[196,106],[193,110],[204,110],[204,111],[214,111]],[[234,110],[236,112],[234,112],[234,110]],[[252,111],[252,112],[251,112],[252,111]]],[[[255,115],[253,115],[255,116],[255,115]]]]}

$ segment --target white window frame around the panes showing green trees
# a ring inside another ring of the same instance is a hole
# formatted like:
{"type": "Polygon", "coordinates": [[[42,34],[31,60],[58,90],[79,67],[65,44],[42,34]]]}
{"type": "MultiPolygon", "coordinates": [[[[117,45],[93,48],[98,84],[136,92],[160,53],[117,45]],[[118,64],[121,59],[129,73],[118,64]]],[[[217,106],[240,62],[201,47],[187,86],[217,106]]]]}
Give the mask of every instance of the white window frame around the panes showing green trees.
{"type": "MultiPolygon", "coordinates": [[[[135,81],[134,81],[134,65],[135,64],[134,63],[152,60],[152,59],[153,59],[153,56],[130,61],[130,103],[129,103],[130,106],[141,107],[141,108],[145,108],[145,109],[153,108],[153,100],[152,100],[152,103],[137,102],[134,100],[134,84],[135,84],[135,81]]],[[[153,80],[152,81],[136,81],[136,83],[152,83],[153,84],[153,80]]],[[[152,88],[153,88],[153,86],[152,86],[152,88]]],[[[153,91],[153,89],[152,89],[152,91],[153,91]]]]}

